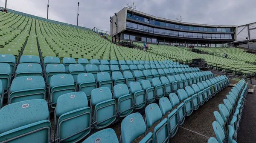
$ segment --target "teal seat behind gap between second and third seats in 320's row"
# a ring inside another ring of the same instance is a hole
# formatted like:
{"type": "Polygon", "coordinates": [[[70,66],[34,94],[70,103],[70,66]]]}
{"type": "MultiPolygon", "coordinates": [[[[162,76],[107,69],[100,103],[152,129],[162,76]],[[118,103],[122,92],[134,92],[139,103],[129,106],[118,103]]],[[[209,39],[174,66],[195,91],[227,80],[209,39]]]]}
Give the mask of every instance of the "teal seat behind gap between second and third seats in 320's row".
{"type": "Polygon", "coordinates": [[[92,90],[98,87],[92,73],[78,74],[76,85],[78,87],[78,91],[84,92],[88,100],[91,98],[92,90]]]}

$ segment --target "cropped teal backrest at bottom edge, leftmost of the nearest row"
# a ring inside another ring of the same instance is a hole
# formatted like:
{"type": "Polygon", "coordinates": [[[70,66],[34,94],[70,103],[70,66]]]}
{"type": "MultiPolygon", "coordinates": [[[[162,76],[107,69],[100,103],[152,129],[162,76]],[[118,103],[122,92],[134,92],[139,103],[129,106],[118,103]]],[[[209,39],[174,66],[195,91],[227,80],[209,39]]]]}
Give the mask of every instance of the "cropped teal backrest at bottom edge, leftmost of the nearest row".
{"type": "Polygon", "coordinates": [[[102,129],[87,137],[82,143],[119,143],[116,132],[111,129],[102,129]]]}

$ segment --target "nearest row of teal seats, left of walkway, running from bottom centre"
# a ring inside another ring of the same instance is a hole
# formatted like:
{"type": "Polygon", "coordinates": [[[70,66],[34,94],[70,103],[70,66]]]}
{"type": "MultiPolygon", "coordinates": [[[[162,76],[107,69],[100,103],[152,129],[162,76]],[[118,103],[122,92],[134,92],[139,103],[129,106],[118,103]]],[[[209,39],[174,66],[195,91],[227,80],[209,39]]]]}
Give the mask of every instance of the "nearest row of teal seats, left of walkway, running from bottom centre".
{"type": "MultiPolygon", "coordinates": [[[[228,82],[223,86],[227,86],[228,82]]],[[[199,84],[200,85],[200,84],[199,84]]],[[[196,85],[195,85],[196,86],[196,85]]],[[[185,117],[192,114],[193,110],[198,109],[202,102],[199,101],[200,97],[197,93],[197,88],[193,85],[192,87],[186,86],[184,89],[179,89],[178,97],[175,93],[169,94],[169,98],[161,97],[159,100],[159,106],[156,103],[151,103],[145,108],[145,122],[140,113],[129,114],[122,120],[121,123],[121,136],[120,143],[131,143],[140,135],[144,134],[141,142],[168,142],[169,138],[172,138],[177,133],[178,126],[182,125],[185,117]],[[193,88],[194,87],[194,88],[193,88]],[[191,99],[192,97],[198,96],[198,98],[191,99]],[[184,102],[182,102],[184,100],[184,102]],[[177,106],[178,105],[178,106],[177,106]],[[177,106],[177,109],[173,109],[177,106]],[[189,108],[190,107],[190,108],[189,108]],[[169,113],[171,112],[171,113],[169,113]],[[163,116],[169,113],[167,118],[163,116]],[[148,128],[151,128],[154,123],[160,120],[160,123],[154,127],[154,133],[148,132],[148,128]],[[147,134],[145,134],[145,132],[147,134]]],[[[223,88],[224,88],[223,87],[223,88]]],[[[208,86],[205,88],[207,89],[208,86]]],[[[222,87],[221,87],[222,88],[222,87]]],[[[198,90],[200,90],[198,88],[198,90]]],[[[206,92],[207,93],[207,92],[206,92]]],[[[83,143],[90,142],[92,140],[111,140],[113,143],[118,143],[116,134],[111,129],[105,129],[88,137],[83,143]],[[102,134],[109,131],[109,134],[102,134]]]]}

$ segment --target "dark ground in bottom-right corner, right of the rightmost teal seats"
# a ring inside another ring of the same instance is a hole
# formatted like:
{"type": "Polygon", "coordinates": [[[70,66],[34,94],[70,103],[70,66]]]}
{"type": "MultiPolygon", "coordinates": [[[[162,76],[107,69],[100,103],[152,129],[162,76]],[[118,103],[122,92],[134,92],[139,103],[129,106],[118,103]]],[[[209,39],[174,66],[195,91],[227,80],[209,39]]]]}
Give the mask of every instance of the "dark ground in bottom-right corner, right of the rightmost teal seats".
{"type": "Polygon", "coordinates": [[[237,143],[256,143],[256,92],[248,93],[245,102],[237,143]]]}

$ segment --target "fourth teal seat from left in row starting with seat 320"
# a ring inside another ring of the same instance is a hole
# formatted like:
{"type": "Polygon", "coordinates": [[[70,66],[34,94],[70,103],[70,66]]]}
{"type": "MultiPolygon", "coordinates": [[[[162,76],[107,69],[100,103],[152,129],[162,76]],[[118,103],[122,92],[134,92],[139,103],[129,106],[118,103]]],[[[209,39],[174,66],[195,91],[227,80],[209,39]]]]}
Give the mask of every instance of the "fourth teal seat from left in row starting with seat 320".
{"type": "Polygon", "coordinates": [[[126,84],[118,84],[113,87],[113,97],[117,99],[117,110],[119,117],[125,117],[133,112],[132,94],[126,84]]]}

